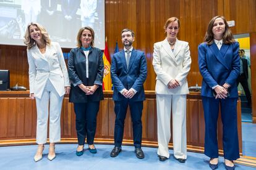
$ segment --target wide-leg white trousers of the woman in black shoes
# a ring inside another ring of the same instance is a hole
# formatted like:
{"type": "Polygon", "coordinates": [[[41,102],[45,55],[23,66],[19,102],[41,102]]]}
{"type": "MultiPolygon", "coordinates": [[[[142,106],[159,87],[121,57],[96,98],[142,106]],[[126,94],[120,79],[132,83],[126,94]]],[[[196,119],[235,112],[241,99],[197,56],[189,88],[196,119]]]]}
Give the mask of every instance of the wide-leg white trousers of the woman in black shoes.
{"type": "Polygon", "coordinates": [[[187,159],[186,98],[187,95],[156,94],[158,155],[169,158],[172,110],[174,156],[187,159]]]}

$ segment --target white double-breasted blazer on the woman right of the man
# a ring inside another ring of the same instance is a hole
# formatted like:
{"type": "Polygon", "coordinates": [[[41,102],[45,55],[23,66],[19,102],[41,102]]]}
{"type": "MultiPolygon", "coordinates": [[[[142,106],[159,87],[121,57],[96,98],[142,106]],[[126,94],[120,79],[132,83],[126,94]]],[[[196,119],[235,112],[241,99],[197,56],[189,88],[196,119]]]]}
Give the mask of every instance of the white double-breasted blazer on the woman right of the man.
{"type": "Polygon", "coordinates": [[[156,42],[152,64],[156,73],[156,94],[189,94],[187,75],[190,70],[191,58],[188,42],[177,39],[174,52],[167,39],[156,42]],[[180,86],[168,89],[171,79],[177,79],[180,86]]]}

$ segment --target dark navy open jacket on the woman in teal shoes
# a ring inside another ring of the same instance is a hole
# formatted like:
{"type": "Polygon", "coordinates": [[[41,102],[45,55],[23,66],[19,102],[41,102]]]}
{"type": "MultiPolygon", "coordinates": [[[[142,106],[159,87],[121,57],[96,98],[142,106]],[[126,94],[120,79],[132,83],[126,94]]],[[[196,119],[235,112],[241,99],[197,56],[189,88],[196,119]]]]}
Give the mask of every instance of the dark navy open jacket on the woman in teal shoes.
{"type": "Polygon", "coordinates": [[[89,77],[86,78],[85,54],[80,47],[72,49],[69,55],[69,79],[71,89],[69,94],[69,102],[86,103],[103,100],[103,52],[100,49],[92,47],[88,54],[88,71],[89,77]],[[85,95],[79,86],[83,83],[85,86],[100,85],[92,95],[85,95]]]}

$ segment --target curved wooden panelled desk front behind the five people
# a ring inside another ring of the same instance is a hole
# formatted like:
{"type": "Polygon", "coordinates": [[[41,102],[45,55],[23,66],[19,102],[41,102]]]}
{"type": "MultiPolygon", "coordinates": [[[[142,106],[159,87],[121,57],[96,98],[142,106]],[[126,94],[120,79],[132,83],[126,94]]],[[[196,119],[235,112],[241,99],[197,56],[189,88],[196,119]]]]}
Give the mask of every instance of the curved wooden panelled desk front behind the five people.
{"type": "MultiPolygon", "coordinates": [[[[95,143],[114,144],[114,102],[112,91],[105,91],[105,100],[100,103],[97,118],[95,143]]],[[[29,91],[0,91],[0,146],[35,144],[36,107],[35,100],[28,97],[29,91]]],[[[155,91],[146,91],[143,103],[142,140],[144,146],[157,147],[156,96],[155,91]]],[[[61,115],[61,143],[76,143],[75,113],[72,103],[64,97],[61,115]]],[[[132,121],[127,111],[124,144],[133,145],[132,121]]],[[[220,118],[220,117],[219,117],[220,118]]],[[[239,152],[242,154],[241,101],[237,104],[237,126],[239,133],[239,152]]],[[[205,123],[200,92],[187,95],[187,149],[203,152],[205,123]]],[[[223,154],[222,124],[218,121],[218,145],[223,154]]],[[[173,147],[172,139],[169,147],[173,147]]]]}

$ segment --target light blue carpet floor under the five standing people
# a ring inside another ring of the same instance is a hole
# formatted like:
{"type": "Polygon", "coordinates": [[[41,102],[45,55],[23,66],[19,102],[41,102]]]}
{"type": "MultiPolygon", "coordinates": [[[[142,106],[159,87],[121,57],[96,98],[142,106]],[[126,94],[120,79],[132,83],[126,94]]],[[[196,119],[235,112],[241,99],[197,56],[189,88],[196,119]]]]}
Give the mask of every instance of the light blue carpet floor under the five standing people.
{"type": "MultiPolygon", "coordinates": [[[[134,153],[134,147],[123,146],[122,152],[116,157],[111,158],[113,145],[95,145],[97,153],[92,154],[85,150],[85,153],[78,157],[75,155],[75,144],[56,145],[56,158],[53,161],[47,159],[49,146],[45,146],[43,160],[35,163],[33,156],[36,152],[36,145],[0,147],[0,169],[210,169],[208,166],[209,158],[202,153],[189,152],[186,163],[179,163],[174,160],[173,155],[169,160],[160,162],[156,154],[157,148],[143,147],[145,158],[139,160],[134,153]]],[[[173,154],[173,150],[170,150],[173,154]]],[[[219,168],[224,169],[223,158],[220,157],[219,168]]],[[[247,166],[236,165],[236,169],[254,169],[247,166]]]]}

